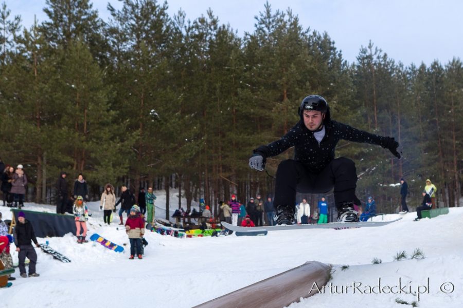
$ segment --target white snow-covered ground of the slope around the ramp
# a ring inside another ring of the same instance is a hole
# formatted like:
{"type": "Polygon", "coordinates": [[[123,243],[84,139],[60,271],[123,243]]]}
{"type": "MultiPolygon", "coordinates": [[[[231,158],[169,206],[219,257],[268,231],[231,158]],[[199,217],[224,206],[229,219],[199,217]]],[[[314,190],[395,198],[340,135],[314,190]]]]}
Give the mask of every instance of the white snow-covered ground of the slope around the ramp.
{"type": "MultiPolygon", "coordinates": [[[[164,191],[156,195],[156,205],[164,207],[164,191]]],[[[171,208],[177,208],[174,194],[171,200],[171,208]]],[[[126,233],[116,230],[116,223],[100,226],[98,203],[89,207],[93,213],[87,224],[89,236],[98,233],[120,245],[129,243],[126,233]]],[[[54,206],[32,203],[26,203],[25,209],[55,211],[54,206]]],[[[11,218],[6,207],[0,211],[3,219],[11,218]]],[[[165,211],[156,209],[156,217],[165,218],[165,211]]],[[[398,217],[387,215],[384,220],[398,217]]],[[[260,237],[177,239],[147,232],[149,245],[143,260],[128,259],[129,245],[118,254],[92,242],[77,244],[70,234],[49,238],[49,245],[72,262],[59,262],[37,249],[40,277],[21,278],[16,269],[13,286],[0,290],[0,306],[192,307],[317,260],[333,265],[331,287],[291,308],[406,307],[396,298],[417,301],[419,307],[463,307],[463,208],[419,222],[413,221],[415,217],[416,213],[409,213],[383,227],[288,230],[260,237]],[[393,261],[398,252],[410,255],[415,248],[422,249],[424,259],[393,261]],[[382,263],[371,264],[373,258],[382,263]],[[349,267],[343,271],[343,265],[349,267]],[[409,291],[423,294],[418,301],[409,291]]],[[[13,259],[17,261],[15,251],[13,259]]]]}

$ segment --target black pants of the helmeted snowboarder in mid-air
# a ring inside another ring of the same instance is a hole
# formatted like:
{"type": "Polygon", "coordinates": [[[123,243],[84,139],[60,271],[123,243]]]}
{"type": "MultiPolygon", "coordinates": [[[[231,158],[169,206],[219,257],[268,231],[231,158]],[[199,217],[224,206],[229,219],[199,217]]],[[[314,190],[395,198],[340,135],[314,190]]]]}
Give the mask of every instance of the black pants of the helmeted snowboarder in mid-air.
{"type": "Polygon", "coordinates": [[[304,164],[292,159],[278,165],[275,182],[275,207],[278,205],[296,206],[296,192],[301,194],[325,194],[334,188],[336,208],[344,202],[361,205],[355,197],[357,169],[355,163],[345,157],[333,160],[322,171],[314,173],[304,164]]]}

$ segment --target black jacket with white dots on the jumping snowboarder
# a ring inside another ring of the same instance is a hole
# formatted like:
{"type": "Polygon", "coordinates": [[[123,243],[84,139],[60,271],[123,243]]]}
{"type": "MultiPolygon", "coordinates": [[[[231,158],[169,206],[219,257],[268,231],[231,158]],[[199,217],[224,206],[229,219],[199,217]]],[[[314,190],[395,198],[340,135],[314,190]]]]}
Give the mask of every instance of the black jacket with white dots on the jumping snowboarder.
{"type": "Polygon", "coordinates": [[[383,148],[388,139],[336,121],[324,122],[325,137],[320,143],[313,136],[313,132],[300,120],[280,140],[255,149],[254,155],[261,155],[265,159],[277,156],[294,146],[294,160],[317,173],[334,160],[334,149],[341,139],[381,145],[383,148]]]}

